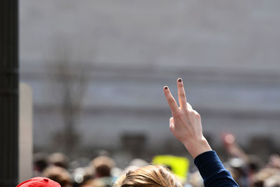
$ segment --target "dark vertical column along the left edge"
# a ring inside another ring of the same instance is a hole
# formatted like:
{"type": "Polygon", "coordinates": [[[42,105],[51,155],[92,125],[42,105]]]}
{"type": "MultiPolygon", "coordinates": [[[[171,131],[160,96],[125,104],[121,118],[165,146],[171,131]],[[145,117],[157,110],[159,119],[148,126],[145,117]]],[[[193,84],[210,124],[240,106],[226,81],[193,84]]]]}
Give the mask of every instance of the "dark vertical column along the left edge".
{"type": "Polygon", "coordinates": [[[0,1],[0,186],[18,184],[18,0],[0,1]]]}

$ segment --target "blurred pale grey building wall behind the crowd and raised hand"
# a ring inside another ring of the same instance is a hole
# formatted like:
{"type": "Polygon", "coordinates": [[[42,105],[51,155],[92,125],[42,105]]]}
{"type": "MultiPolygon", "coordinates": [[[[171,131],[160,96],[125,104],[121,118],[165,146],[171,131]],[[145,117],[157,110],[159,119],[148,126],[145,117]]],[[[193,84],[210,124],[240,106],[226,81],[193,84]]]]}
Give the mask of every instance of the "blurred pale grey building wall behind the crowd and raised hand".
{"type": "Polygon", "coordinates": [[[106,150],[118,167],[189,157],[162,92],[188,102],[221,158],[222,134],[279,153],[280,1],[20,1],[20,81],[33,90],[34,153],[106,150]]]}

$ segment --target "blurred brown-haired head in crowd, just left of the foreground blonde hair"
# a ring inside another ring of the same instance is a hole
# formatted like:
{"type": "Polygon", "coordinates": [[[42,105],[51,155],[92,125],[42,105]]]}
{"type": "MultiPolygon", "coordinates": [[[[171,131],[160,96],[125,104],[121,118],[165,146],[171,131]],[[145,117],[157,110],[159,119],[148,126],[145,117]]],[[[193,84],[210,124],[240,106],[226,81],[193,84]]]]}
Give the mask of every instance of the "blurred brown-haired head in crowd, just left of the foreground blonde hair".
{"type": "Polygon", "coordinates": [[[116,163],[108,156],[99,156],[92,160],[92,166],[95,169],[97,177],[111,176],[111,169],[115,167],[116,163]]]}

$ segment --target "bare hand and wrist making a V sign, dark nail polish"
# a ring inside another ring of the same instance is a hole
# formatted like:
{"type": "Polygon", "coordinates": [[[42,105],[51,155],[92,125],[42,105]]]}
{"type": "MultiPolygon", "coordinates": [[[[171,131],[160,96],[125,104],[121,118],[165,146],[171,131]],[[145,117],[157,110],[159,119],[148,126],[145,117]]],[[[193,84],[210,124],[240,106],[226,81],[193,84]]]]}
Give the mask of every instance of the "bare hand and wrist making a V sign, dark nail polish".
{"type": "Polygon", "coordinates": [[[174,137],[179,139],[190,155],[195,158],[201,153],[211,151],[211,147],[202,134],[200,114],[187,102],[181,78],[177,80],[177,87],[180,107],[177,105],[169,88],[165,86],[163,89],[173,116],[169,120],[169,127],[174,137]]]}

